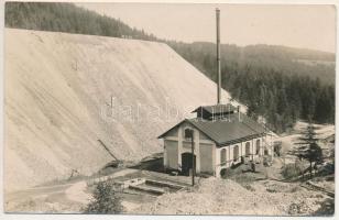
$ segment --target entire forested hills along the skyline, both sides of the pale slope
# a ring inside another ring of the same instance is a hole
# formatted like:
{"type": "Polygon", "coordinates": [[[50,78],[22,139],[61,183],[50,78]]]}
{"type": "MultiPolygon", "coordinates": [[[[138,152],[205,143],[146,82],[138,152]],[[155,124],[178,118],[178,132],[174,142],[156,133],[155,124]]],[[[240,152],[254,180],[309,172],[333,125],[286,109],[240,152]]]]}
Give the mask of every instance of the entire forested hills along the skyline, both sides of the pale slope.
{"type": "MultiPolygon", "coordinates": [[[[161,41],[120,20],[72,3],[7,2],[6,26],[41,31],[161,41]]],[[[165,42],[205,75],[216,80],[212,43],[165,42]]],[[[221,46],[222,87],[249,107],[252,117],[264,116],[283,132],[298,119],[335,121],[335,54],[285,46],[221,46]]]]}

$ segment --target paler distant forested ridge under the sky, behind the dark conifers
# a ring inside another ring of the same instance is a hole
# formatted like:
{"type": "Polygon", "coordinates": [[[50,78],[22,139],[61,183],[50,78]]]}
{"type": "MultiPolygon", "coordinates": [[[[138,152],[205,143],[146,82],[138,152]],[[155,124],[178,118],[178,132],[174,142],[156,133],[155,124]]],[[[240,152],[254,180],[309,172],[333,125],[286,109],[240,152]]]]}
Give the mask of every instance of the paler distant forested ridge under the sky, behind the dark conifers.
{"type": "MultiPolygon", "coordinates": [[[[182,56],[197,66],[201,72],[216,73],[216,44],[207,42],[168,44],[182,56]]],[[[325,84],[335,82],[335,59],[332,53],[304,48],[292,48],[276,45],[250,45],[240,47],[222,44],[221,59],[223,64],[237,64],[240,67],[282,70],[285,75],[317,77],[325,84]]]]}

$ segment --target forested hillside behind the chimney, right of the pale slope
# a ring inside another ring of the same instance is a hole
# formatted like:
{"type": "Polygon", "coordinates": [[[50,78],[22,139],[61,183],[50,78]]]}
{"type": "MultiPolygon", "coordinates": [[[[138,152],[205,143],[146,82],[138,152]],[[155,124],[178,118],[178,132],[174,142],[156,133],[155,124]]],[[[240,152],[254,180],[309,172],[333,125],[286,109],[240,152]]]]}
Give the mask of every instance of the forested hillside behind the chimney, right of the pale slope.
{"type": "MultiPolygon", "coordinates": [[[[170,45],[217,81],[214,44],[172,42],[170,45]]],[[[270,129],[277,133],[293,128],[297,120],[335,123],[335,65],[300,64],[295,59],[305,58],[308,51],[295,50],[288,54],[284,48],[221,45],[222,88],[248,106],[249,116],[264,117],[270,129]]],[[[335,59],[333,55],[321,52],[309,53],[309,58],[314,57],[335,59]]]]}

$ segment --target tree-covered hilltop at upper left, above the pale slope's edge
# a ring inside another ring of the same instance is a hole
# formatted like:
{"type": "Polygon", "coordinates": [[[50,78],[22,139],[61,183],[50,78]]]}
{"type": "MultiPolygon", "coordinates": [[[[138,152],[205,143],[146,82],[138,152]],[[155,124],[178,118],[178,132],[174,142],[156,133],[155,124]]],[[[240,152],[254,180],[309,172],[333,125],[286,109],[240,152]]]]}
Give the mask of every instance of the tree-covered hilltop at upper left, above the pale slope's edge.
{"type": "Polygon", "coordinates": [[[6,2],[8,28],[156,41],[118,19],[66,2],[6,2]]]}

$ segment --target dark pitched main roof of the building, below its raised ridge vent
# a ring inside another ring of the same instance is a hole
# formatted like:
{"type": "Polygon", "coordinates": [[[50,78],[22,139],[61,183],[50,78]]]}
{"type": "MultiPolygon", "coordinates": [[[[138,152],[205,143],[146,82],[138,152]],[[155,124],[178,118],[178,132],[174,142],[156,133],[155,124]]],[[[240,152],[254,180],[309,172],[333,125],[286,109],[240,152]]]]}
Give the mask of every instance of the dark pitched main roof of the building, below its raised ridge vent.
{"type": "MultiPolygon", "coordinates": [[[[251,140],[265,133],[265,129],[261,124],[245,114],[240,113],[240,121],[238,117],[238,113],[232,113],[223,120],[185,119],[172,129],[186,121],[215,141],[218,146],[251,140]]],[[[160,135],[158,139],[164,138],[172,129],[160,135]]]]}

